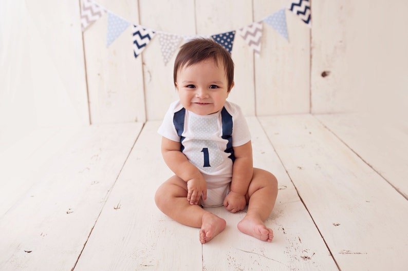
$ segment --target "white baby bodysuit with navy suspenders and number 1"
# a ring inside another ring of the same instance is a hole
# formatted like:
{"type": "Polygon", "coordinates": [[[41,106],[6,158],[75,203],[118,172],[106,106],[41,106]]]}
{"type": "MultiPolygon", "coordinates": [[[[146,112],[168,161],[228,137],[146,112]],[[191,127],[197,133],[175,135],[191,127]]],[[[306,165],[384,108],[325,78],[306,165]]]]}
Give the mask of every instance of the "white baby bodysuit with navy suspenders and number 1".
{"type": "Polygon", "coordinates": [[[195,165],[207,182],[207,200],[203,207],[221,206],[229,192],[232,147],[244,145],[251,135],[238,105],[227,102],[220,111],[197,115],[173,102],[158,133],[181,143],[181,151],[195,165]]]}

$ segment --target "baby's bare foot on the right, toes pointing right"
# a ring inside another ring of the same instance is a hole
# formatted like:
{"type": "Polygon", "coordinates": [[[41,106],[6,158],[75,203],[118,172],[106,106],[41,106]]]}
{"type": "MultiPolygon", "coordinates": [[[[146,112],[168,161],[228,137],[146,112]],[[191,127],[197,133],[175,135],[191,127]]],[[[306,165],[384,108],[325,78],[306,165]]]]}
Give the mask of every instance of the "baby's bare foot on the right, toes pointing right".
{"type": "Polygon", "coordinates": [[[239,221],[238,229],[242,231],[242,233],[253,236],[259,240],[272,242],[272,229],[267,228],[264,222],[259,218],[245,216],[243,220],[239,221]]]}

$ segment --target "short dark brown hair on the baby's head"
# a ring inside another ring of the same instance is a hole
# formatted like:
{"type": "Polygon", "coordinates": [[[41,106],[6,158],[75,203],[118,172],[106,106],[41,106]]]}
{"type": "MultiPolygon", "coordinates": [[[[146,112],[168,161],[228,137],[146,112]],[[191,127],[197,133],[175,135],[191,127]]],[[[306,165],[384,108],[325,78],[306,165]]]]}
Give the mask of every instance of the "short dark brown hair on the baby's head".
{"type": "Polygon", "coordinates": [[[234,83],[234,62],[231,59],[230,53],[224,47],[209,38],[194,38],[180,47],[174,62],[174,84],[177,82],[177,72],[179,69],[211,58],[216,65],[218,65],[219,61],[224,64],[228,80],[228,90],[231,90],[234,83]]]}

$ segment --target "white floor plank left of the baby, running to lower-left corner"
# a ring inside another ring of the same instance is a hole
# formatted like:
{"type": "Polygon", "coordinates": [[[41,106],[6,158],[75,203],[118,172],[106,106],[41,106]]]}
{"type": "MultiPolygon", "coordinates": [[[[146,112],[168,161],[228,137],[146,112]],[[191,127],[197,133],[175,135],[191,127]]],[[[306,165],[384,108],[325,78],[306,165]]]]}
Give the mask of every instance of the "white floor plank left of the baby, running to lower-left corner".
{"type": "Polygon", "coordinates": [[[32,177],[35,185],[0,220],[0,269],[75,265],[141,127],[84,128],[32,177]]]}

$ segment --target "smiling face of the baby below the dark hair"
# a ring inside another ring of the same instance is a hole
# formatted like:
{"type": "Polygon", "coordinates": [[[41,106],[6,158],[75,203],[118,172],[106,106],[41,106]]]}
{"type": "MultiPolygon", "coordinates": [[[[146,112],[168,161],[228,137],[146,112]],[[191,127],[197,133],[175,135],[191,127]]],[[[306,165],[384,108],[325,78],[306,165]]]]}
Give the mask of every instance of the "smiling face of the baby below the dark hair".
{"type": "Polygon", "coordinates": [[[213,59],[179,69],[176,87],[182,106],[198,115],[221,110],[229,94],[224,65],[213,59]]]}

